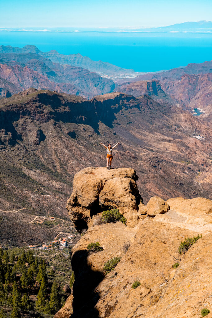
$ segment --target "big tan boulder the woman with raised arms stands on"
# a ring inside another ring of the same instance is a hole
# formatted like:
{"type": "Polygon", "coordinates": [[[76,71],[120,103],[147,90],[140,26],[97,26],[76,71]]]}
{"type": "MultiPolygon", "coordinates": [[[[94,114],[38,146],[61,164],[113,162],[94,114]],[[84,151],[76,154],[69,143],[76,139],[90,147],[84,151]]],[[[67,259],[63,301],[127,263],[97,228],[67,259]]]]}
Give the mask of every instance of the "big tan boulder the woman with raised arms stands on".
{"type": "Polygon", "coordinates": [[[119,208],[128,226],[138,223],[138,205],[143,202],[134,169],[85,168],[74,176],[73,192],[67,202],[70,218],[78,231],[93,224],[93,216],[119,208]]]}

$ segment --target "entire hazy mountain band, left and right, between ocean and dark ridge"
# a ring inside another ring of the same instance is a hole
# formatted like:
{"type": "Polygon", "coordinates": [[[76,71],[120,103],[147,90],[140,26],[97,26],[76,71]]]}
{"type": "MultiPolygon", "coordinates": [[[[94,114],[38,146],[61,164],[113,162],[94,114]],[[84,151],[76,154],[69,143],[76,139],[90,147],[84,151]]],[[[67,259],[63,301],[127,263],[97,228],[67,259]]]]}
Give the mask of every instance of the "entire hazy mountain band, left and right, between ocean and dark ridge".
{"type": "Polygon", "coordinates": [[[113,91],[134,97],[147,94],[154,100],[180,105],[194,114],[193,109],[200,108],[202,117],[210,120],[211,73],[212,61],[157,73],[133,73],[133,70],[95,62],[80,54],[42,52],[33,45],[0,46],[0,97],[10,97],[30,87],[86,99],[113,91]],[[123,79],[130,72],[131,78],[123,79]]]}

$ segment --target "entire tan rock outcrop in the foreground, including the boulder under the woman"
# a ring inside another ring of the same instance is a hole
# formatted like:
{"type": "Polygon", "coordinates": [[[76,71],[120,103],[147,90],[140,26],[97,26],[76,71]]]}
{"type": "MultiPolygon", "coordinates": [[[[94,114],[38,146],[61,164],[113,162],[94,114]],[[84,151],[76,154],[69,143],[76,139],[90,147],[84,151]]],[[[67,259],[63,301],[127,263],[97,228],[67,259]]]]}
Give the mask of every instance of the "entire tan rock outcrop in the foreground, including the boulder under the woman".
{"type": "Polygon", "coordinates": [[[72,249],[72,295],[55,318],[200,318],[203,308],[212,312],[212,201],[152,197],[144,205],[136,179],[128,168],[75,175],[67,209],[78,229],[88,229],[72,249]],[[117,207],[126,225],[101,222],[102,211],[117,207]],[[198,234],[179,254],[181,241],[198,234]],[[103,250],[89,252],[95,242],[103,250]],[[120,261],[106,273],[104,264],[114,257],[120,261]]]}

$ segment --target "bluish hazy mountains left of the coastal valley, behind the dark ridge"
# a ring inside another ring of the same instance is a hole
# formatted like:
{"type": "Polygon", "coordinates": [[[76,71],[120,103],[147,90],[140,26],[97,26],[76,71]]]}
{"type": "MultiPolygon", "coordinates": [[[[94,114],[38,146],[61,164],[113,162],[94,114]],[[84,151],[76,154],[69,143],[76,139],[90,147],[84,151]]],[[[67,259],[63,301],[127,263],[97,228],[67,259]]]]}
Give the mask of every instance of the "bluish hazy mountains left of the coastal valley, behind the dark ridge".
{"type": "Polygon", "coordinates": [[[41,52],[33,45],[23,48],[0,46],[2,97],[34,87],[90,99],[113,92],[115,85],[110,77],[135,77],[138,74],[110,63],[92,61],[80,54],[63,55],[54,50],[41,52]]]}

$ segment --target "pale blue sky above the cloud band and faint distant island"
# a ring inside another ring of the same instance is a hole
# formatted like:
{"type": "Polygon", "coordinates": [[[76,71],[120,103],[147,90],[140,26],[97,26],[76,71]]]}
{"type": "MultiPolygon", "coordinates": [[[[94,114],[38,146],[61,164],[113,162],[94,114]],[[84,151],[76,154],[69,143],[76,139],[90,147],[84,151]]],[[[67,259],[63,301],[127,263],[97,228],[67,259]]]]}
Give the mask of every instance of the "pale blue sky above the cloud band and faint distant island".
{"type": "Polygon", "coordinates": [[[211,19],[211,0],[0,0],[0,27],[154,27],[211,19]]]}

